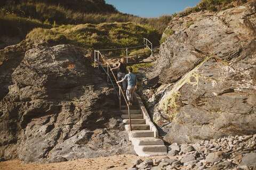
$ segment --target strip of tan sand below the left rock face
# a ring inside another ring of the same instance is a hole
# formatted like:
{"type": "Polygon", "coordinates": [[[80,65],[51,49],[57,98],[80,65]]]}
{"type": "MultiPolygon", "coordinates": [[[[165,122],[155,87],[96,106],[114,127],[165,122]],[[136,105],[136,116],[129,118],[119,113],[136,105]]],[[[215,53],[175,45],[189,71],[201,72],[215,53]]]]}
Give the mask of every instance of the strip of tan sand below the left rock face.
{"type": "MultiPolygon", "coordinates": [[[[128,169],[131,168],[138,156],[135,155],[116,155],[110,157],[99,157],[92,159],[77,159],[62,163],[53,164],[24,164],[20,160],[8,160],[6,162],[0,162],[1,170],[96,170],[107,169],[109,166],[115,166],[109,168],[110,170],[128,169]]],[[[158,158],[158,157],[154,157],[158,158]]],[[[145,158],[141,158],[145,159],[145,158]]]]}

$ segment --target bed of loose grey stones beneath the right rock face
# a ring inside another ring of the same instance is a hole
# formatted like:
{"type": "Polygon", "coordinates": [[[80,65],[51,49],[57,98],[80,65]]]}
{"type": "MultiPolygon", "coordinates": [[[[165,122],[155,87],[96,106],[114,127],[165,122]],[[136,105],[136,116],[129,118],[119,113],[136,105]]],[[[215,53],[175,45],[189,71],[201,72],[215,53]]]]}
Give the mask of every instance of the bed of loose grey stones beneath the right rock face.
{"type": "MultiPolygon", "coordinates": [[[[154,160],[155,166],[143,169],[239,169],[256,167],[256,134],[202,140],[194,144],[173,143],[167,157],[154,160]],[[169,158],[170,157],[170,158],[169,158]],[[157,166],[158,165],[158,166],[157,166]]],[[[142,160],[140,160],[142,162],[142,160]]],[[[144,161],[145,162],[145,161],[144,161]]],[[[144,163],[142,162],[142,163],[144,163]]],[[[142,164],[141,163],[141,164],[142,164]]],[[[133,170],[133,169],[132,169],[133,170]]],[[[139,167],[137,166],[137,169],[139,167]]]]}

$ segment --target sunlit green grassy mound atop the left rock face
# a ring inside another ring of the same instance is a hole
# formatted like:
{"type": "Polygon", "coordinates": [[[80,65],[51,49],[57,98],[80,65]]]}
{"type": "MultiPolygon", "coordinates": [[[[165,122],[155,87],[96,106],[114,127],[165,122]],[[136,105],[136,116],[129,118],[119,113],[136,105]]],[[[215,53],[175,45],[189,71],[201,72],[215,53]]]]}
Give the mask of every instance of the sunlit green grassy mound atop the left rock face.
{"type": "Polygon", "coordinates": [[[157,41],[157,35],[157,31],[147,25],[115,22],[61,25],[52,29],[37,28],[28,33],[27,39],[99,49],[138,46],[143,44],[143,37],[157,41]]]}

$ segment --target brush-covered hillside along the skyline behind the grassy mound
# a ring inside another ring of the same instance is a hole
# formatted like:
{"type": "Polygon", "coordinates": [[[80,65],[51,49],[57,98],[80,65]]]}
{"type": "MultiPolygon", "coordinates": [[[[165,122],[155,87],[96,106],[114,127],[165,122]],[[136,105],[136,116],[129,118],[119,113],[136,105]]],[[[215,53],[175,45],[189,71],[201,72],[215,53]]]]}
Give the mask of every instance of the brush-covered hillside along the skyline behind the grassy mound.
{"type": "Polygon", "coordinates": [[[25,18],[37,19],[50,24],[99,24],[111,22],[134,22],[149,24],[162,33],[172,16],[159,18],[140,18],[138,16],[118,12],[113,5],[103,0],[76,1],[26,1],[5,0],[0,3],[5,10],[25,18]]]}

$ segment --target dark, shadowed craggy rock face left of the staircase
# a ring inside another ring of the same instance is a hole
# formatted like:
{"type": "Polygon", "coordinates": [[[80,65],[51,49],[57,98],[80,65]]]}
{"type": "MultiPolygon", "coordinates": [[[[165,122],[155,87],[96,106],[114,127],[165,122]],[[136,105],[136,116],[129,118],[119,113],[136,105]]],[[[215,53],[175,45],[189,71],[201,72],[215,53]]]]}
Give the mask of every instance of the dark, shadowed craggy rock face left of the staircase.
{"type": "Polygon", "coordinates": [[[113,90],[70,45],[1,50],[0,157],[63,162],[132,153],[113,90]]]}

